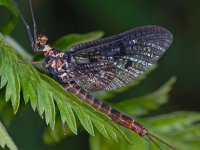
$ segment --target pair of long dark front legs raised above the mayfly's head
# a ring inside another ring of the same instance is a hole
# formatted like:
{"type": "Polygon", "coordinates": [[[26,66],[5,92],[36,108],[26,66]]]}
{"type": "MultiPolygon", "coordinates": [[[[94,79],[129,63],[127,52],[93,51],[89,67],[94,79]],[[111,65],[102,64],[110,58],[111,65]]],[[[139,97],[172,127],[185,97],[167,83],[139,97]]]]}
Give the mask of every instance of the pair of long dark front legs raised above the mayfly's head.
{"type": "Polygon", "coordinates": [[[31,42],[31,47],[34,51],[38,51],[37,49],[37,26],[36,26],[36,22],[35,22],[35,18],[34,18],[34,13],[33,13],[33,8],[32,8],[32,3],[31,0],[29,0],[29,4],[30,4],[30,8],[31,8],[31,16],[32,16],[32,21],[33,21],[33,31],[31,31],[30,26],[28,25],[27,21],[25,20],[25,17],[23,16],[22,12],[20,11],[20,9],[18,8],[17,2],[16,0],[13,0],[14,5],[16,6],[20,18],[22,19],[26,30],[28,32],[28,36],[31,42]]]}

